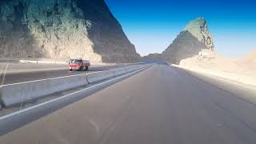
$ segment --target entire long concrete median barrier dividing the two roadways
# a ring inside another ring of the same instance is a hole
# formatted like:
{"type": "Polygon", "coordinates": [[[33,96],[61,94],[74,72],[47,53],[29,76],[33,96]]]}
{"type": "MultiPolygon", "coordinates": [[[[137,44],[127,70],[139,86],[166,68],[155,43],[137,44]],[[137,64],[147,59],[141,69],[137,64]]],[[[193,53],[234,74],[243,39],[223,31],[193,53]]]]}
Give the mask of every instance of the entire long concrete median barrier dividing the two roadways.
{"type": "Polygon", "coordinates": [[[91,83],[102,82],[106,79],[128,74],[134,70],[142,70],[142,68],[144,69],[146,67],[146,65],[129,66],[90,74],[79,74],[74,76],[4,85],[1,86],[0,89],[0,106],[16,106],[22,102],[30,102],[64,90],[70,90],[79,86],[86,86],[91,83]]]}

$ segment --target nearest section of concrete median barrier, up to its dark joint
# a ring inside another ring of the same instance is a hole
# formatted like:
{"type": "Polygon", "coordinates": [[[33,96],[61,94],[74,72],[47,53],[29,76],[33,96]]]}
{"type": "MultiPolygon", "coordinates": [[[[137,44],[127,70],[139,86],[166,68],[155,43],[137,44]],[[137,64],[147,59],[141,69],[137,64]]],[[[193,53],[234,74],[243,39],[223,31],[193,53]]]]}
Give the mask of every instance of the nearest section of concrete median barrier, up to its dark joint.
{"type": "Polygon", "coordinates": [[[82,74],[5,85],[1,87],[2,105],[7,107],[14,106],[62,90],[69,90],[78,86],[86,86],[87,84],[86,74],[82,74]]]}

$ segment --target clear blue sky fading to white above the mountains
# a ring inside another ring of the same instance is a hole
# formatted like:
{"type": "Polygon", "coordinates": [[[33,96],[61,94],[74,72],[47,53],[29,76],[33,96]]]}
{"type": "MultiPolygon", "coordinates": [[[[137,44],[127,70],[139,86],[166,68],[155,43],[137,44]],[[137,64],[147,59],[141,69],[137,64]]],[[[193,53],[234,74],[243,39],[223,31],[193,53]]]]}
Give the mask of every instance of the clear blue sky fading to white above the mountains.
{"type": "Polygon", "coordinates": [[[215,49],[241,57],[256,49],[255,0],[106,0],[139,54],[161,53],[194,18],[204,17],[215,49]]]}

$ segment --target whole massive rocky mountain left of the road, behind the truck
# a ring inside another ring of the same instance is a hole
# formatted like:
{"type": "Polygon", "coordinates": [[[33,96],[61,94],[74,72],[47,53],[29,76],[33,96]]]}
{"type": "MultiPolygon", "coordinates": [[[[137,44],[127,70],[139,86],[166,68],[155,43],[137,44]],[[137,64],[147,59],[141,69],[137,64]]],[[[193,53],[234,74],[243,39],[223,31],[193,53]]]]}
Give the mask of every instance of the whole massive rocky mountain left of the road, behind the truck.
{"type": "Polygon", "coordinates": [[[104,0],[2,0],[0,58],[140,57],[104,0]]]}

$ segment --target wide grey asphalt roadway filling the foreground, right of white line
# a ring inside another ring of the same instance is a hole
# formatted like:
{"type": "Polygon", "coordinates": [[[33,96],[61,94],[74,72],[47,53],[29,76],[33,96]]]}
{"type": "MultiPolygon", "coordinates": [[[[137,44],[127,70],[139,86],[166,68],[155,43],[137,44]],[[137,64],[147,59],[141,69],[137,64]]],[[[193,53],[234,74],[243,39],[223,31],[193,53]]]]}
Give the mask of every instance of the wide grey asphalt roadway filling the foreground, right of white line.
{"type": "Polygon", "coordinates": [[[255,93],[225,85],[154,66],[2,135],[0,143],[255,144],[255,98],[247,99],[255,93]]]}

